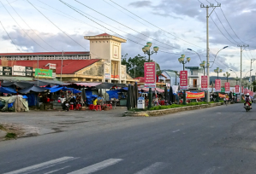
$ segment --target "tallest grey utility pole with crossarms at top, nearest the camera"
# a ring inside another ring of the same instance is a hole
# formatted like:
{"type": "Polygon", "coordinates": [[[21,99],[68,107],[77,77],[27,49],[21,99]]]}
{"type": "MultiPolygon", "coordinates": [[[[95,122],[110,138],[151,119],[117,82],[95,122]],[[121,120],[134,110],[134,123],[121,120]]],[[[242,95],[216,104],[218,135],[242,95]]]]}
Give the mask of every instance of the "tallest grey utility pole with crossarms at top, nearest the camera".
{"type": "MultiPolygon", "coordinates": [[[[211,13],[216,9],[217,7],[221,7],[221,3],[217,3],[217,5],[214,5],[214,3],[210,3],[210,5],[206,5],[201,3],[200,5],[201,8],[206,9],[206,65],[210,65],[209,63],[209,17],[211,13]],[[209,8],[213,8],[211,13],[209,14],[209,8]]],[[[206,101],[210,102],[210,93],[209,93],[209,83],[210,83],[210,71],[209,67],[207,67],[207,98],[206,101]]]]}

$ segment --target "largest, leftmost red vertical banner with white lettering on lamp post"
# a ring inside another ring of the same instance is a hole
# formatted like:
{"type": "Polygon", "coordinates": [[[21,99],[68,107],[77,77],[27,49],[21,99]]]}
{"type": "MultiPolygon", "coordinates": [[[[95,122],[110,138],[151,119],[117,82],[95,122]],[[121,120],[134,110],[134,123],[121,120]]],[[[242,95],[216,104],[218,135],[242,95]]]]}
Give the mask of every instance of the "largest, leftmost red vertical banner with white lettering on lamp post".
{"type": "Polygon", "coordinates": [[[144,63],[144,77],[146,88],[156,88],[156,63],[145,62],[144,63]]]}

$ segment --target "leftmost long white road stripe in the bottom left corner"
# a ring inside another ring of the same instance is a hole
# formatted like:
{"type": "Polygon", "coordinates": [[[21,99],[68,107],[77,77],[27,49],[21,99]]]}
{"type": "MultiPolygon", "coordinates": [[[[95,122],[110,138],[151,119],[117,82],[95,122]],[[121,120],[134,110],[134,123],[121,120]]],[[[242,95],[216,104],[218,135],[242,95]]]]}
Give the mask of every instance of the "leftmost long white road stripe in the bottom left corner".
{"type": "Polygon", "coordinates": [[[8,173],[3,173],[3,174],[21,174],[21,173],[24,173],[24,172],[27,172],[27,171],[34,171],[34,170],[39,169],[39,168],[43,168],[43,167],[47,167],[47,166],[50,167],[50,166],[53,166],[53,165],[57,165],[59,163],[62,163],[64,161],[68,161],[70,159],[74,159],[74,157],[63,157],[63,158],[60,158],[60,159],[52,159],[52,160],[49,160],[45,163],[40,163],[38,165],[28,166],[28,167],[25,167],[25,168],[17,170],[17,171],[10,171],[8,173]]]}

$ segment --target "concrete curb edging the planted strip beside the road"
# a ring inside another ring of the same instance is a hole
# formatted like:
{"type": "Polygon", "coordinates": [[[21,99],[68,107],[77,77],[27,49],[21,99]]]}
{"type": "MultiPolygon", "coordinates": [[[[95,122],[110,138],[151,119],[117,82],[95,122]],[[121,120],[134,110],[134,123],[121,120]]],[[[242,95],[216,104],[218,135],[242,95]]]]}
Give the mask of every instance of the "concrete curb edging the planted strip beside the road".
{"type": "Polygon", "coordinates": [[[161,110],[153,110],[153,111],[145,111],[145,112],[130,112],[126,111],[124,113],[124,116],[130,116],[130,117],[150,117],[150,116],[160,116],[164,114],[170,114],[170,113],[179,113],[182,111],[190,111],[190,110],[196,110],[201,108],[207,108],[207,107],[217,107],[221,106],[221,102],[216,103],[210,103],[210,104],[203,104],[203,105],[195,105],[195,106],[188,106],[188,107],[175,107],[175,108],[168,108],[168,109],[161,109],[161,110]]]}

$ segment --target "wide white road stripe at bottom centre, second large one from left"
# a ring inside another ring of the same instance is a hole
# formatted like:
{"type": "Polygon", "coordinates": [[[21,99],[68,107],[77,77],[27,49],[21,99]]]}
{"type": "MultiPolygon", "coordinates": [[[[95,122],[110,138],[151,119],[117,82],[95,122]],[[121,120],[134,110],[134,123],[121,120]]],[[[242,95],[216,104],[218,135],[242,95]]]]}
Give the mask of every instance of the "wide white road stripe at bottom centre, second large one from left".
{"type": "Polygon", "coordinates": [[[116,163],[119,163],[122,161],[122,159],[107,159],[102,162],[96,163],[94,165],[87,166],[85,168],[82,168],[78,171],[72,171],[68,174],[89,174],[95,171],[102,170],[110,165],[115,165],[116,163]]]}

